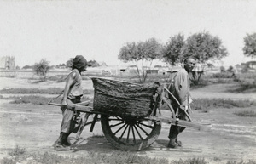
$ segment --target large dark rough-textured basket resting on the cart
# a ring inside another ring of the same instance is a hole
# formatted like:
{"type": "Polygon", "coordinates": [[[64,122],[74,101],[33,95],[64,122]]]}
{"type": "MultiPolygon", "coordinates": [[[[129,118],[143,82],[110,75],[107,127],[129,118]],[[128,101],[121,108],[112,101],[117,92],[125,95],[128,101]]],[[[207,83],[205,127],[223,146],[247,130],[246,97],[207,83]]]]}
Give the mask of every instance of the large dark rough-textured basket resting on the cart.
{"type": "Polygon", "coordinates": [[[113,116],[149,116],[156,91],[154,85],[92,78],[93,109],[113,116]]]}

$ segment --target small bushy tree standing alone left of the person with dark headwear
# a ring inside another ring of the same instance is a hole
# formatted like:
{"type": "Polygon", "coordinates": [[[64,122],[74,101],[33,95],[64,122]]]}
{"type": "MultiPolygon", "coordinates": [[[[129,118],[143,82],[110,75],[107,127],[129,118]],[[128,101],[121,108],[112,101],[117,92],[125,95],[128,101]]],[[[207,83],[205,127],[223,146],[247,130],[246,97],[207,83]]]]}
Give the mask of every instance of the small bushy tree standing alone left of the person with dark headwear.
{"type": "Polygon", "coordinates": [[[46,74],[49,71],[49,61],[46,59],[41,59],[39,63],[35,63],[33,66],[33,71],[36,72],[38,76],[43,76],[44,81],[46,80],[46,74]]]}

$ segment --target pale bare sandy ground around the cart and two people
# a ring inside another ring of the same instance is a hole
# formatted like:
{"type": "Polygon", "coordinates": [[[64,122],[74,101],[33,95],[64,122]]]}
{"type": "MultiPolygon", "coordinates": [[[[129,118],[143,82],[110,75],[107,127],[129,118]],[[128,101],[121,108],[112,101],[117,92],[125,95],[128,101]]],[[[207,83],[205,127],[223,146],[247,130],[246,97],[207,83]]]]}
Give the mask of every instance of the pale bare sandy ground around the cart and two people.
{"type": "MultiPolygon", "coordinates": [[[[50,88],[61,87],[64,83],[45,82],[40,85],[28,83],[24,79],[1,78],[2,88],[50,88]]],[[[84,88],[92,88],[91,82],[84,82],[84,88]]],[[[218,87],[217,87],[218,88],[218,87]]],[[[223,93],[212,88],[196,89],[192,92],[195,99],[224,98],[255,99],[255,94],[223,93]],[[211,91],[211,92],[210,92],[211,91]],[[210,94],[209,93],[213,93],[210,94]],[[200,96],[201,95],[201,96],[200,96]],[[215,96],[212,96],[215,95],[215,96]]],[[[60,133],[61,110],[50,105],[15,105],[9,100],[0,100],[0,159],[7,156],[9,150],[16,145],[25,147],[30,152],[49,152],[65,156],[83,156],[90,151],[112,153],[116,151],[103,136],[101,122],[96,122],[93,133],[90,127],[84,127],[81,139],[73,144],[73,150],[57,152],[53,145],[60,133]]],[[[187,128],[179,135],[183,142],[180,149],[168,149],[169,124],[162,123],[159,138],[148,149],[138,151],[140,156],[165,157],[169,161],[204,157],[209,163],[226,163],[226,161],[256,160],[256,118],[234,115],[240,110],[256,110],[251,108],[214,109],[209,113],[194,111],[193,121],[211,123],[211,131],[198,131],[187,128]]],[[[163,111],[163,115],[169,115],[163,111]]],[[[75,142],[75,134],[71,134],[71,143],[75,142]]]]}

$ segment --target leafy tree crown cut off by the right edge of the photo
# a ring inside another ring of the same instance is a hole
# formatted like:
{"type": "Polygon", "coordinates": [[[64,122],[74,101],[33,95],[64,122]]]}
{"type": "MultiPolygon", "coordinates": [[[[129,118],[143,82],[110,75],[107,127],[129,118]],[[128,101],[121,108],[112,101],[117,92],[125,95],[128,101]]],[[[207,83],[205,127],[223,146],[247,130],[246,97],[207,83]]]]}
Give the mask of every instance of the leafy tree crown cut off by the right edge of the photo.
{"type": "Polygon", "coordinates": [[[244,47],[242,48],[243,54],[247,57],[256,57],[256,33],[247,34],[247,37],[244,37],[244,47]]]}

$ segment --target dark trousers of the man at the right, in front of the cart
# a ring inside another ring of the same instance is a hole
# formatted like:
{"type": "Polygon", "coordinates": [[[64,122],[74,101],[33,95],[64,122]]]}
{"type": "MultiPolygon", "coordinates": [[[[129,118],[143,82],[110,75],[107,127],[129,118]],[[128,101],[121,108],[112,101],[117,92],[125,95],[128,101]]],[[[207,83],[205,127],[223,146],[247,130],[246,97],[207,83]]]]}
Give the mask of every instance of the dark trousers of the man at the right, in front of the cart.
{"type": "MultiPolygon", "coordinates": [[[[172,103],[172,107],[173,107],[173,110],[175,111],[175,113],[177,112],[177,109],[179,108],[179,106],[177,105],[177,103],[172,103]]],[[[179,109],[178,110],[178,116],[177,118],[179,118],[180,120],[186,120],[186,114],[183,112],[183,110],[179,109]]],[[[171,125],[170,127],[170,130],[169,130],[169,136],[168,138],[169,139],[175,139],[177,138],[177,135],[179,133],[182,133],[183,130],[185,129],[186,127],[179,127],[179,126],[176,126],[176,125],[171,125]]]]}

